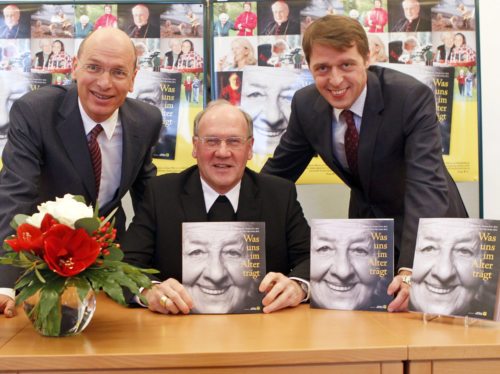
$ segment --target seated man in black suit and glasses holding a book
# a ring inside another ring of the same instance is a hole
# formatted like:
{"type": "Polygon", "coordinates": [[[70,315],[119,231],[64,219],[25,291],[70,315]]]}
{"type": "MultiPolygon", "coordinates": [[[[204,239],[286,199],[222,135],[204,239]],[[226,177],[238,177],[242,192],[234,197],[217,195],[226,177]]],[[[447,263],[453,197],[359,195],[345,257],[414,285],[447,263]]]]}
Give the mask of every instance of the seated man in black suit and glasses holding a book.
{"type": "MultiPolygon", "coordinates": [[[[197,166],[148,183],[122,248],[126,261],[160,271],[161,283],[143,291],[150,310],[186,314],[196,307],[180,283],[181,226],[212,220],[212,207],[221,199],[230,210],[226,220],[265,222],[268,273],[259,286],[265,293],[264,313],[296,306],[307,298],[309,226],[293,183],[246,168],[252,157],[252,133],[248,114],[225,100],[214,101],[195,118],[192,154],[197,166]]],[[[228,274],[204,277],[201,292],[213,296],[236,292],[228,274]]]]}

